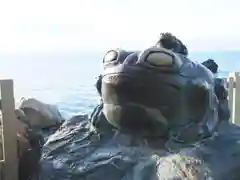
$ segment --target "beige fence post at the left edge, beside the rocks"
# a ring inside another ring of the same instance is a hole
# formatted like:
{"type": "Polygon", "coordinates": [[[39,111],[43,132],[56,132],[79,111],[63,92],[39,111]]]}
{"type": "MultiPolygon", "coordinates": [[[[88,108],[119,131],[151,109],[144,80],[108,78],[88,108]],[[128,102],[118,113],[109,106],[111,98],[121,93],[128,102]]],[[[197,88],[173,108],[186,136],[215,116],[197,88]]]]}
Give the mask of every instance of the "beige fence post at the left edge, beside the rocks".
{"type": "Polygon", "coordinates": [[[18,180],[17,125],[12,80],[0,80],[3,113],[4,180],[18,180]]]}

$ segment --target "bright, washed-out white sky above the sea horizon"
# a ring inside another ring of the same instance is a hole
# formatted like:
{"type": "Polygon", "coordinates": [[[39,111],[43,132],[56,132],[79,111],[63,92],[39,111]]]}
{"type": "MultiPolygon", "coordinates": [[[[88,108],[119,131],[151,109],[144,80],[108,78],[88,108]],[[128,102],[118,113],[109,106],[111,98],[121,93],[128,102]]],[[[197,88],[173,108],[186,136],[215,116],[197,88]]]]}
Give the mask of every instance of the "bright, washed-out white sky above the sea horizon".
{"type": "Polygon", "coordinates": [[[161,32],[189,51],[240,50],[237,0],[0,0],[0,53],[143,49],[161,32]]]}

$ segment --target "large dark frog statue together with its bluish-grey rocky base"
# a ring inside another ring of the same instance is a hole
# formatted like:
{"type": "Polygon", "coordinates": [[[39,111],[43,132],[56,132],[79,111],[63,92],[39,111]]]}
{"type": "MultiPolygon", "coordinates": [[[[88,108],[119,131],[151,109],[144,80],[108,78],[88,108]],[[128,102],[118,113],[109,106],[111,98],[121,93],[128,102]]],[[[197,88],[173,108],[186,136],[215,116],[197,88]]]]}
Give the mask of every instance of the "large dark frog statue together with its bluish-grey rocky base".
{"type": "Polygon", "coordinates": [[[163,47],[110,50],[91,116],[49,137],[40,180],[237,180],[240,129],[218,117],[214,76],[163,47]]]}

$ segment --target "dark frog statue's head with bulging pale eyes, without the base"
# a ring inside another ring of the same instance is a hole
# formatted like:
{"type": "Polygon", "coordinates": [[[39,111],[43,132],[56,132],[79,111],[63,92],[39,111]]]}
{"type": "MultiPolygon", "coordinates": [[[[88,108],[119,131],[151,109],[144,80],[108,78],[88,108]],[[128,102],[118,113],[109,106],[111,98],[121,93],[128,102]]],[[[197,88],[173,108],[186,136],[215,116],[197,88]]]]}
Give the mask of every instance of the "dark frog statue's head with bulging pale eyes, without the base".
{"type": "Polygon", "coordinates": [[[195,141],[218,125],[213,74],[165,48],[110,50],[98,83],[105,119],[141,136],[195,141]]]}

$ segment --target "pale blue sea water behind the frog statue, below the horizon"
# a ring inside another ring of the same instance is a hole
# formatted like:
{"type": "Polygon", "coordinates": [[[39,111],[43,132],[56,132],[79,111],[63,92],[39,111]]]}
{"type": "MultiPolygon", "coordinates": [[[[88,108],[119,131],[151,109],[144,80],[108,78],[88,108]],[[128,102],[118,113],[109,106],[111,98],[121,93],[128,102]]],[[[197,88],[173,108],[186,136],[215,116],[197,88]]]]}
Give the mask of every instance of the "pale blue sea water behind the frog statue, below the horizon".
{"type": "MultiPolygon", "coordinates": [[[[79,113],[90,113],[99,102],[94,85],[96,77],[102,71],[103,55],[104,53],[0,55],[0,78],[14,80],[16,102],[22,97],[34,97],[57,105],[60,112],[68,118],[79,113]]],[[[191,57],[204,61],[207,57],[216,56],[219,53],[200,53],[191,57]]],[[[233,57],[237,56],[240,57],[240,53],[233,57]]],[[[224,65],[225,61],[224,58],[219,61],[222,77],[227,76],[228,71],[236,70],[236,65],[230,64],[229,67],[229,63],[224,65]]]]}

